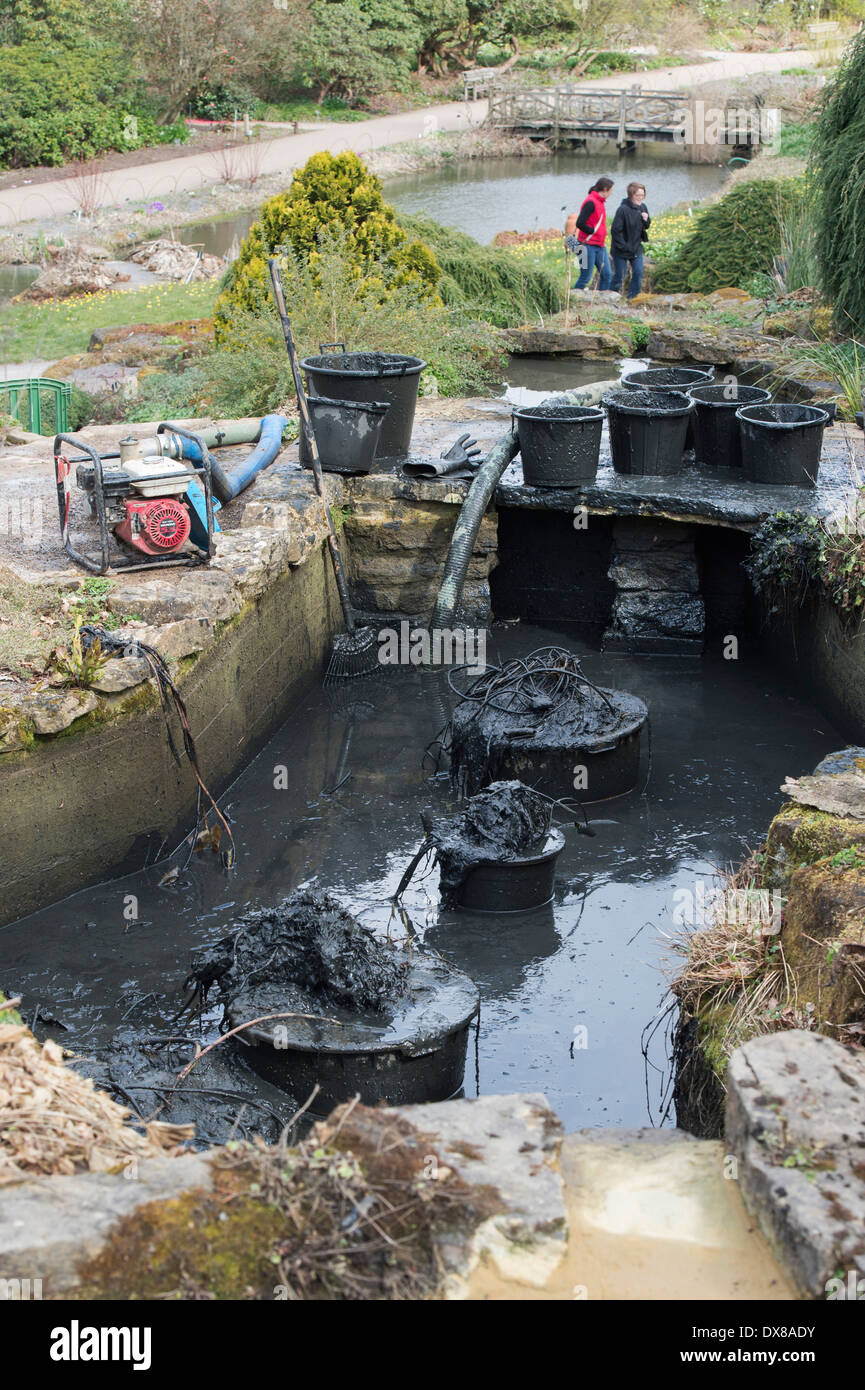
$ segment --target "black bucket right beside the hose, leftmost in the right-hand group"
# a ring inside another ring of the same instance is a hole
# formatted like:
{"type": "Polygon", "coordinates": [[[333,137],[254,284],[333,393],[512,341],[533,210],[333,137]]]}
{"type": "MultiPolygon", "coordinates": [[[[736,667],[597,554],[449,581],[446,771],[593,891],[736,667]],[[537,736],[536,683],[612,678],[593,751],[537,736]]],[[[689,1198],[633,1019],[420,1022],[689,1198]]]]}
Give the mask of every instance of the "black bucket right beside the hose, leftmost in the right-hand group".
{"type": "Polygon", "coordinates": [[[523,477],[531,488],[577,488],[598,471],[604,411],[542,403],[515,410],[523,477]]]}

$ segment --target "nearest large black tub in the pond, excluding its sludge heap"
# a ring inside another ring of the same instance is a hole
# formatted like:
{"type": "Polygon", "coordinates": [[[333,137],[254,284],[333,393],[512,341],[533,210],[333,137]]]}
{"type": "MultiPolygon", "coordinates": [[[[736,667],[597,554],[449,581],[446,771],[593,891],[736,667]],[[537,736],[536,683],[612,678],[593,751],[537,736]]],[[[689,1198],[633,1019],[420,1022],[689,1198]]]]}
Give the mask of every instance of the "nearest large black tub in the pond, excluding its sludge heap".
{"type": "MultiPolygon", "coordinates": [[[[320,1020],[271,1019],[238,1034],[241,1055],[299,1104],[318,1086],[310,1106],[314,1115],[328,1115],[357,1094],[363,1105],[446,1101],[463,1084],[478,990],[439,956],[402,955],[407,990],[384,1015],[349,1016],[323,1005],[320,1020]]],[[[231,1026],[281,1012],[273,990],[239,995],[228,1012],[231,1026]]]]}

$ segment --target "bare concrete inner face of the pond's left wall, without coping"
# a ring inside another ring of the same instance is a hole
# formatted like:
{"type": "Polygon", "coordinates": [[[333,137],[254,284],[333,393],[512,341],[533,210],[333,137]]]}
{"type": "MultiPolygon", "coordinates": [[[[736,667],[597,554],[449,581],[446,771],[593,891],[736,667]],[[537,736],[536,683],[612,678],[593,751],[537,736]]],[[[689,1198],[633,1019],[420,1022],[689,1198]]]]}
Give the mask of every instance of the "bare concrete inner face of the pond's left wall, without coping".
{"type": "MultiPolygon", "coordinates": [[[[320,678],[338,613],[330,560],[318,546],[228,621],[179,676],[202,776],[214,795],[320,678]]],[[[147,708],[74,724],[1,759],[0,924],[108,874],[140,869],[191,830],[196,783],[185,759],[174,763],[156,694],[150,684],[146,689],[147,708]]],[[[135,702],[140,706],[142,696],[135,702]]]]}

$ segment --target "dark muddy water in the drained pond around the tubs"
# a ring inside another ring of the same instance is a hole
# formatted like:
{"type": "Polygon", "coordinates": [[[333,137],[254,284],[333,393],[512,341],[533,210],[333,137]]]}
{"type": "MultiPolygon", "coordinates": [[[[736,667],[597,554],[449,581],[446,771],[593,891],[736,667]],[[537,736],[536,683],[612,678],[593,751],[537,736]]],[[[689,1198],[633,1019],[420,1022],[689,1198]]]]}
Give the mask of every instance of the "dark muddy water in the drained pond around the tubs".
{"type": "MultiPolygon", "coordinates": [[[[480,987],[467,1095],[544,1091],[570,1130],[674,1123],[665,1029],[652,1037],[648,1066],[641,1051],[644,1031],[670,1002],[674,894],[757,845],[784,776],[811,771],[844,739],[757,657],[599,655],[567,632],[528,624],[494,626],[487,656],[498,663],[551,641],[579,652],[592,680],[647,702],[651,749],[644,735],[640,790],[588,808],[592,838],[566,826],[548,908],[509,917],[445,913],[431,874],[413,880],[407,916],[427,947],[480,987]]],[[[3,986],[22,995],[35,1031],[90,1058],[97,1076],[118,1031],[131,1042],[216,1038],[217,1008],[195,1027],[172,1022],[191,954],[243,910],[300,884],[332,890],[367,926],[402,935],[388,899],[423,838],[420,812],[455,809],[448,778],[421,769],[452,701],[441,671],[412,667],[312,688],[224,796],[238,844],[231,873],[210,852],[182,867],[181,851],[172,883],[160,887],[170,869],[163,860],[6,927],[3,986]]],[[[256,1105],[285,1113],[278,1093],[231,1048],[214,1054],[218,1086],[243,1095],[253,1113],[256,1105]]],[[[174,1072],[186,1055],[174,1059],[174,1072]]],[[[140,1080],[134,1062],[124,1074],[140,1080]]]]}

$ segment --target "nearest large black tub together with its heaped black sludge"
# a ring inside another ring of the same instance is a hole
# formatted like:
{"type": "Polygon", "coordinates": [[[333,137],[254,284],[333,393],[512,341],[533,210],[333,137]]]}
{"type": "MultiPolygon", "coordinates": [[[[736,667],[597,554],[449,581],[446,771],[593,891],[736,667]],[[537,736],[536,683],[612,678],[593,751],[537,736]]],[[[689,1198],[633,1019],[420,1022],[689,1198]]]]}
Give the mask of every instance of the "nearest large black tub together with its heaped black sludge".
{"type": "Polygon", "coordinates": [[[478,992],[439,956],[363,927],[330,892],[296,888],[229,919],[202,947],[186,987],[217,986],[235,1047],[299,1104],[327,1113],[356,1093],[442,1101],[459,1091],[478,992]]]}

